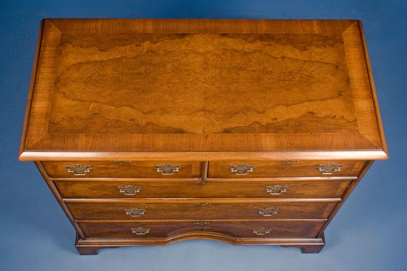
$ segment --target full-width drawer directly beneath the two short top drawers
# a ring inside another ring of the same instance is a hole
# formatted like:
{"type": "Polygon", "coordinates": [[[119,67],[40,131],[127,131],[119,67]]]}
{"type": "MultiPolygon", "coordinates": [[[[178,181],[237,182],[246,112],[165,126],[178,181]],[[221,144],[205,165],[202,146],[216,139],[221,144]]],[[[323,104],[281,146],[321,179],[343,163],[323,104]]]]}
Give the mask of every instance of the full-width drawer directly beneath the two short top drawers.
{"type": "Polygon", "coordinates": [[[64,198],[337,198],[350,181],[55,181],[64,198]]]}

